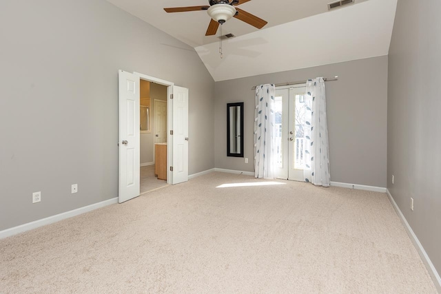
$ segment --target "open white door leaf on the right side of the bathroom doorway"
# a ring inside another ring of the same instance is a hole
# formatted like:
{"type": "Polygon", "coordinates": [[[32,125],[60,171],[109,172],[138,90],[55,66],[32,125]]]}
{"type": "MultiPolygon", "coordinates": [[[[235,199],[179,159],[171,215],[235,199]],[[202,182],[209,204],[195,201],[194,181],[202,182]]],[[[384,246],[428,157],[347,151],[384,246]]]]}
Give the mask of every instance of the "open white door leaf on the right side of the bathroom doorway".
{"type": "MultiPolygon", "coordinates": [[[[188,180],[188,89],[172,86],[172,184],[188,180]]],[[[170,141],[169,141],[170,144],[170,141]]],[[[169,168],[170,170],[170,168],[169,168]]]]}

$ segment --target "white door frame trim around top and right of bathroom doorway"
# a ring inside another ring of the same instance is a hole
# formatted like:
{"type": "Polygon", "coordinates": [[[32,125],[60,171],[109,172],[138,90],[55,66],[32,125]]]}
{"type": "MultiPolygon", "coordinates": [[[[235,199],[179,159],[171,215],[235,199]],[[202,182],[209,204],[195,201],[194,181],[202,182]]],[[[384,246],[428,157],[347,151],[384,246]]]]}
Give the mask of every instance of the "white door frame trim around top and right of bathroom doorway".
{"type": "Polygon", "coordinates": [[[154,76],[147,76],[147,74],[141,74],[140,72],[133,72],[133,74],[135,76],[139,76],[139,78],[145,81],[150,81],[153,83],[157,83],[159,85],[167,86],[167,184],[172,184],[173,173],[172,171],[170,171],[170,167],[172,166],[172,161],[173,161],[173,157],[172,157],[173,137],[170,135],[169,130],[170,130],[170,126],[172,125],[172,119],[173,119],[172,101],[170,99],[170,95],[172,94],[174,83],[162,80],[161,78],[155,78],[154,76]]]}

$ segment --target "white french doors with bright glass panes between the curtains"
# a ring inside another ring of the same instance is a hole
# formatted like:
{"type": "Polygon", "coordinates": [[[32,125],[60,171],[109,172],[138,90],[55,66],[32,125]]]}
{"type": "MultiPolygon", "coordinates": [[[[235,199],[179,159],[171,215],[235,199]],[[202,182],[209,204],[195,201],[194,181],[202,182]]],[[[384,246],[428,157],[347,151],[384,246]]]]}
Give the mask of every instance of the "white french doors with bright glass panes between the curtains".
{"type": "Polygon", "coordinates": [[[276,89],[276,178],[305,181],[305,85],[276,89]]]}

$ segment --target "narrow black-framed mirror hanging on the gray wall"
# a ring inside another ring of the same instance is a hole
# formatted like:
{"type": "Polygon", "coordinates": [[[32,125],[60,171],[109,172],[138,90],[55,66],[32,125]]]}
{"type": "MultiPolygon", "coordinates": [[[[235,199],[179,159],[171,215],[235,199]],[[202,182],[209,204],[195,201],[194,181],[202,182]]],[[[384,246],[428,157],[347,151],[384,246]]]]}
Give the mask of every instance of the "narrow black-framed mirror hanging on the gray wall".
{"type": "Polygon", "coordinates": [[[243,102],[227,103],[227,156],[243,157],[243,102]]]}

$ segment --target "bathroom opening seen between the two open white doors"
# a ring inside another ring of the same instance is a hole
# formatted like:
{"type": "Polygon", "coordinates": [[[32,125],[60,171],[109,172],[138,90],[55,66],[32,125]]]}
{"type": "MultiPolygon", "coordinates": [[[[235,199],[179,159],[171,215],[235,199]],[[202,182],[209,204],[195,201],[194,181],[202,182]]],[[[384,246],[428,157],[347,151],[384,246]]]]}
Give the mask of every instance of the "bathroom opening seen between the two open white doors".
{"type": "Polygon", "coordinates": [[[167,185],[167,86],[141,78],[139,101],[142,194],[167,185]]]}

